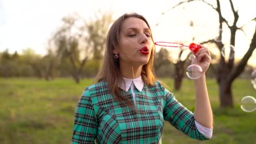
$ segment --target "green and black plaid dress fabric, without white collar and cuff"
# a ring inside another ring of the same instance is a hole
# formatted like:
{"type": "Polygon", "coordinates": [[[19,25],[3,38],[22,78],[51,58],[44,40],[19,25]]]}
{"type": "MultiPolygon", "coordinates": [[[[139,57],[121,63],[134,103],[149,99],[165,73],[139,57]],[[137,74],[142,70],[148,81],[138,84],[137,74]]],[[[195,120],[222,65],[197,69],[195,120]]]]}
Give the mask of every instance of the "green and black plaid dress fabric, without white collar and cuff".
{"type": "MultiPolygon", "coordinates": [[[[131,89],[121,92],[133,101],[131,89]]],[[[159,81],[134,92],[136,106],[143,113],[121,107],[104,81],[85,88],[75,110],[72,144],[94,144],[95,139],[97,144],[156,144],[164,120],[192,139],[207,139],[197,130],[193,113],[159,81]]]]}

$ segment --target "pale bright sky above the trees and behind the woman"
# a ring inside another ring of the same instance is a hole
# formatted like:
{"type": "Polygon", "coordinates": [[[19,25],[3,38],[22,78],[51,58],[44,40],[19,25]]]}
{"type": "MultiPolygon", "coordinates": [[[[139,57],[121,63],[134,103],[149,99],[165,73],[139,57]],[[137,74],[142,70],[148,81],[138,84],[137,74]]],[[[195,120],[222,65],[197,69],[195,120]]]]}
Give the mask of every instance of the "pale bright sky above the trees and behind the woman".
{"type": "MultiPolygon", "coordinates": [[[[181,0],[0,0],[0,51],[6,48],[11,53],[22,52],[25,48],[32,48],[36,53],[46,53],[47,41],[51,34],[61,25],[61,18],[77,12],[85,19],[92,17],[98,9],[112,10],[114,19],[123,13],[136,12],[146,17],[152,27],[155,41],[195,42],[212,39],[218,33],[218,17],[216,11],[202,2],[193,2],[177,7],[165,15],[173,5],[181,0]],[[189,27],[189,22],[194,27],[189,27]],[[157,26],[156,24],[159,23],[157,26]]],[[[215,0],[206,0],[216,5],[215,0]]],[[[256,16],[254,7],[256,0],[233,0],[235,8],[239,8],[242,26],[256,16]],[[250,11],[251,9],[251,11],[250,11]]],[[[228,21],[232,21],[232,13],[228,0],[221,0],[222,13],[228,21]]],[[[241,58],[251,43],[255,22],[245,25],[243,32],[237,32],[235,57],[241,58]]],[[[225,47],[229,46],[229,32],[223,29],[225,47]],[[226,43],[227,42],[227,43],[226,43]]],[[[168,48],[174,57],[177,49],[168,48]]],[[[256,52],[248,61],[256,65],[256,52]]],[[[177,55],[176,55],[177,56],[177,55]]]]}

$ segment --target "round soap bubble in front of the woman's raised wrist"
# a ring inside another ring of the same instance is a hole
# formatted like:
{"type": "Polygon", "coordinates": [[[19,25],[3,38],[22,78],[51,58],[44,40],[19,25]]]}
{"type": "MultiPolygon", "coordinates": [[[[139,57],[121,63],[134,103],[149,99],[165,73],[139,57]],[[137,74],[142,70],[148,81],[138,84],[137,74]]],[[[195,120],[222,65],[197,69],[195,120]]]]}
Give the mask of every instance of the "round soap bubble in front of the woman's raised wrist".
{"type": "Polygon", "coordinates": [[[190,79],[195,80],[202,76],[203,69],[197,64],[191,64],[189,67],[187,67],[186,74],[190,79]]]}

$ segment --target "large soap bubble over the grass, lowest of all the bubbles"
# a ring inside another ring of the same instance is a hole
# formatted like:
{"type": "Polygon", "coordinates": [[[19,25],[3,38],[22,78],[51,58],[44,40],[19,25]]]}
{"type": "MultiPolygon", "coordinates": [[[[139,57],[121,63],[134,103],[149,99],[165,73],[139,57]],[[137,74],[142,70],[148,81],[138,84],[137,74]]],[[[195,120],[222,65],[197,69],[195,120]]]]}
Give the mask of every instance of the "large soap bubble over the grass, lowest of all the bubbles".
{"type": "Polygon", "coordinates": [[[256,110],[256,99],[252,96],[245,96],[241,100],[241,109],[245,112],[253,112],[256,110]]]}

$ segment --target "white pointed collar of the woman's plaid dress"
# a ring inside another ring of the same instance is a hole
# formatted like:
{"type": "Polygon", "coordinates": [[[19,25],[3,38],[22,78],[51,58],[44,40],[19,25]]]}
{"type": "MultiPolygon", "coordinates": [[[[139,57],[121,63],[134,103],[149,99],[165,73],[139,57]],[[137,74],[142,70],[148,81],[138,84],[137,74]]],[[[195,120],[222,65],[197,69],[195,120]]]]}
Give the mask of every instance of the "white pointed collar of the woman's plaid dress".
{"type": "Polygon", "coordinates": [[[121,89],[123,89],[124,91],[127,92],[129,90],[129,88],[131,87],[131,85],[134,83],[135,87],[139,91],[142,91],[144,83],[143,83],[143,80],[142,80],[141,76],[138,77],[138,78],[135,78],[135,79],[128,79],[128,78],[125,78],[125,77],[123,77],[123,79],[125,80],[125,87],[124,87],[124,85],[122,85],[122,83],[118,83],[119,88],[121,88],[121,89]]]}

